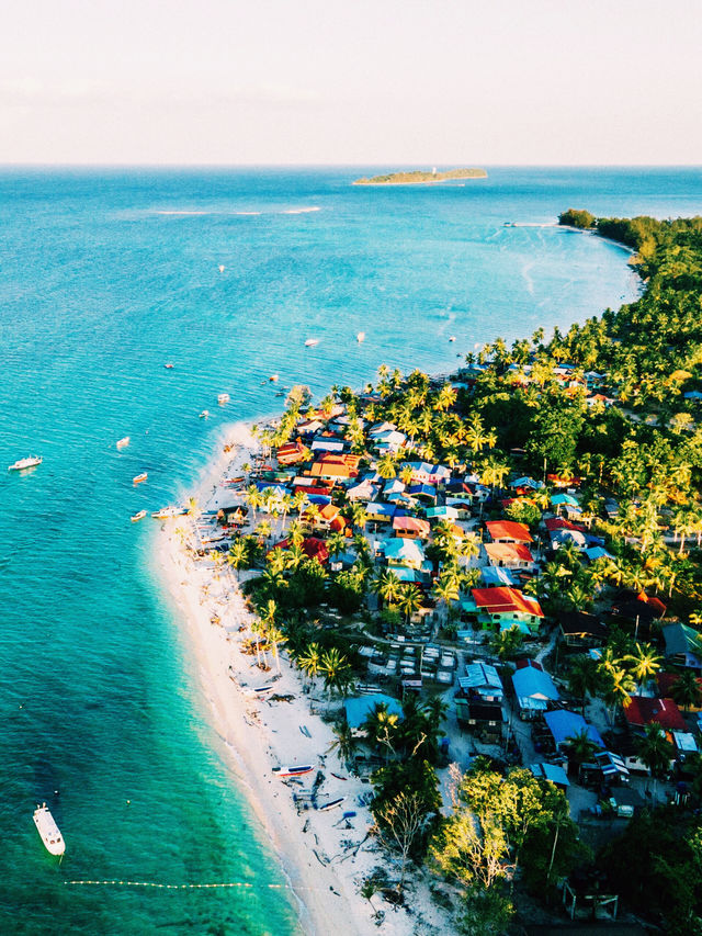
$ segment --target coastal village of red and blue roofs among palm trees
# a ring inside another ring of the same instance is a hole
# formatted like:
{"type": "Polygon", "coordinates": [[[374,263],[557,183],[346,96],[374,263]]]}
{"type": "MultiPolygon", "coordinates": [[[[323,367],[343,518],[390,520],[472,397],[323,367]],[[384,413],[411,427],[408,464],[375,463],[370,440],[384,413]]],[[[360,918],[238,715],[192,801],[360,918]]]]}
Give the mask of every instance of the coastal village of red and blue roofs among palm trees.
{"type": "MultiPolygon", "coordinates": [[[[317,405],[293,387],[179,528],[247,721],[302,702],[268,782],[299,834],[331,816],[367,932],[647,932],[632,853],[702,802],[702,392],[692,368],[656,398],[584,365],[605,326],[317,405]]],[[[667,932],[698,932],[699,873],[665,873],[688,900],[667,932]]]]}

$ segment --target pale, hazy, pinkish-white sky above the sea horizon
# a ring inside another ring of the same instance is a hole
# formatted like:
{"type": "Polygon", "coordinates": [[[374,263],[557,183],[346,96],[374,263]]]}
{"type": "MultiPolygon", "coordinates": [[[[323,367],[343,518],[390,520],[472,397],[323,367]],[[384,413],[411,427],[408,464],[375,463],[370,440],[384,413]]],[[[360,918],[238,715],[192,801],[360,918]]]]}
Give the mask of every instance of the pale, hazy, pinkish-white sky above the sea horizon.
{"type": "Polygon", "coordinates": [[[700,163],[702,0],[18,0],[0,162],[700,163]]]}

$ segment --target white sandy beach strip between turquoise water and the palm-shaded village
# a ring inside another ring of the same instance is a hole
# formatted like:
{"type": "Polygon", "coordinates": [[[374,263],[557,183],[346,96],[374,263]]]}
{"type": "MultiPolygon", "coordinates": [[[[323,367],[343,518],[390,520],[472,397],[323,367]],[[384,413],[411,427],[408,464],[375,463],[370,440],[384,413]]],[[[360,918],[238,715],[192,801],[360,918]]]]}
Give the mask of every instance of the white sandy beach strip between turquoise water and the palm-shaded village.
{"type": "MultiPolygon", "coordinates": [[[[242,424],[231,428],[226,439],[234,446],[231,451],[225,454],[219,446],[219,455],[200,482],[196,497],[201,510],[214,509],[224,503],[222,498],[230,500],[231,495],[220,483],[223,477],[240,473],[241,464],[250,462],[257,450],[256,440],[242,424]]],[[[329,751],[333,741],[331,728],[318,714],[310,713],[310,702],[319,708],[326,706],[321,686],[304,695],[299,676],[284,653],[275,693],[294,698],[276,702],[252,697],[252,687],[268,685],[271,677],[278,677],[275,666],[271,661],[271,669],[262,673],[256,667],[254,657],[240,652],[250,612],[236,574],[225,567],[217,575],[210,560],[195,561],[185,549],[182,533],[176,532],[185,527],[193,529],[190,518],[162,525],[157,534],[157,572],[182,614],[202,691],[214,728],[229,754],[229,766],[265,828],[297,898],[301,928],[317,936],[376,933],[373,911],[358,893],[362,879],[383,860],[375,841],[366,837],[371,813],[358,801],[371,788],[350,777],[336,753],[329,751]],[[215,614],[219,617],[218,624],[212,622],[215,614]],[[244,631],[239,630],[241,627],[244,631]],[[314,764],[315,771],[294,783],[271,774],[272,767],[290,764],[314,764]],[[308,809],[298,814],[293,793],[308,790],[317,769],[325,775],[318,802],[346,799],[329,811],[308,809]],[[344,821],[344,811],[356,815],[344,821]]],[[[416,916],[389,912],[383,932],[405,936],[416,932],[417,923],[416,916]]],[[[440,932],[429,921],[427,924],[422,932],[440,932]]]]}

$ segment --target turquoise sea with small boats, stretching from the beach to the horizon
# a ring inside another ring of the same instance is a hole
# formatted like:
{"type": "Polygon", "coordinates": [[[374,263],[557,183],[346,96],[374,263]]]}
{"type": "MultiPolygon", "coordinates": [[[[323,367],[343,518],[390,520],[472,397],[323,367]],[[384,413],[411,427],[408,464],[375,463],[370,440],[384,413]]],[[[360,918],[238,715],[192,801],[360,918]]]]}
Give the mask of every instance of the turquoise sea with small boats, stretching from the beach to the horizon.
{"type": "Polygon", "coordinates": [[[155,521],[129,516],[182,496],[281,385],[445,372],[636,294],[622,248],[505,222],[702,212],[699,169],[488,171],[378,189],[350,184],[369,168],[0,172],[0,932],[298,932],[159,590],[155,521]],[[30,453],[38,469],[5,471],[30,453]]]}

